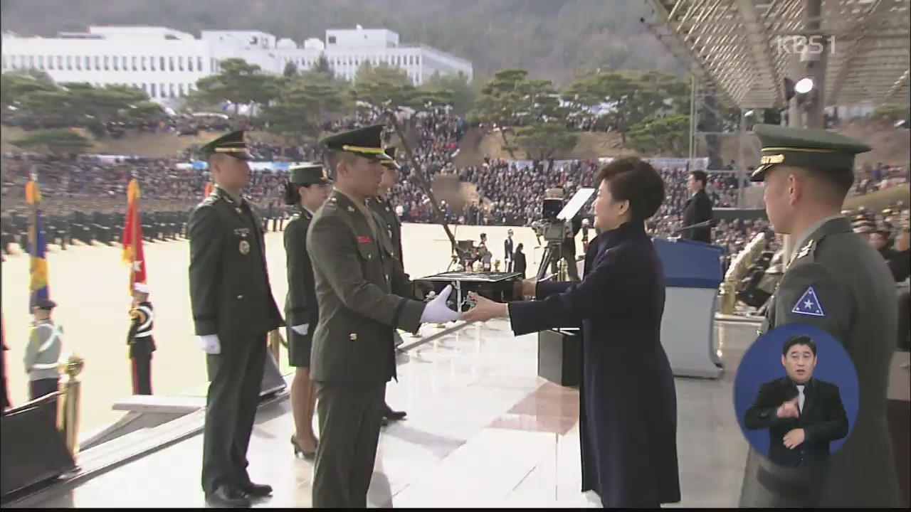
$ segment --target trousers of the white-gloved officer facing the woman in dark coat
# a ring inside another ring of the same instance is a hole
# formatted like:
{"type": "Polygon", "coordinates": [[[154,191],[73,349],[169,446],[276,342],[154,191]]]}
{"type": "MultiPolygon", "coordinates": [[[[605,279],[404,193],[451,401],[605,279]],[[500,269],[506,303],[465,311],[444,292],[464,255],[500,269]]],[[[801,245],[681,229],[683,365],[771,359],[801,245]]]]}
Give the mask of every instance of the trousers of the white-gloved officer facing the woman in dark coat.
{"type": "Polygon", "coordinates": [[[367,507],[385,392],[385,384],[316,383],[320,444],[312,507],[367,507]]]}

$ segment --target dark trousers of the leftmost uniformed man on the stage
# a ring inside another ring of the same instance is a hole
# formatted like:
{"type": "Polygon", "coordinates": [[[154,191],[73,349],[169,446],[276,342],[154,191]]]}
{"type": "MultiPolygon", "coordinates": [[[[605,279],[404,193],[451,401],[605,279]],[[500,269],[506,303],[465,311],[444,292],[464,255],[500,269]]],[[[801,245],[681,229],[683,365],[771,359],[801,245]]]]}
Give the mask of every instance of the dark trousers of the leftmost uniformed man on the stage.
{"type": "Polygon", "coordinates": [[[209,394],[202,440],[202,490],[250,482],[247,447],[260,400],[266,334],[219,337],[221,353],[207,354],[209,394]]]}

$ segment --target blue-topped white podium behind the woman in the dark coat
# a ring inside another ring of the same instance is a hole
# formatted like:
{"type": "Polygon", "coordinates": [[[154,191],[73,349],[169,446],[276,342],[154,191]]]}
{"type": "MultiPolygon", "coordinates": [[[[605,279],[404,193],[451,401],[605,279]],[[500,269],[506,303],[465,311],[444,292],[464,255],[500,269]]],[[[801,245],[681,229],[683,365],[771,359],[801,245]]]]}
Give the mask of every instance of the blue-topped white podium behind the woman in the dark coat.
{"type": "Polygon", "coordinates": [[[655,239],[664,267],[666,298],[661,345],[675,376],[717,379],[715,308],[723,249],[701,241],[655,239]]]}

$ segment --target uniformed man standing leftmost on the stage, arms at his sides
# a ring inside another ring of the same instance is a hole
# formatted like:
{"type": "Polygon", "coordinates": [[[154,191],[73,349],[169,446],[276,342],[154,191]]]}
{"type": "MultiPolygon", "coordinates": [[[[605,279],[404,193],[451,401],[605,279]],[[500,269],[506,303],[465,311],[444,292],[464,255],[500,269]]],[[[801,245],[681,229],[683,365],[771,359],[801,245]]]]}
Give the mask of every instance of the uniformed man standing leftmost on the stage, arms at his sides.
{"type": "Polygon", "coordinates": [[[200,148],[215,181],[189,218],[189,299],[209,370],[202,488],[213,505],[247,507],[271,494],[247,473],[247,447],[265,366],[267,333],[283,325],[272,299],[262,222],[241,189],[250,183],[243,131],[200,148]]]}

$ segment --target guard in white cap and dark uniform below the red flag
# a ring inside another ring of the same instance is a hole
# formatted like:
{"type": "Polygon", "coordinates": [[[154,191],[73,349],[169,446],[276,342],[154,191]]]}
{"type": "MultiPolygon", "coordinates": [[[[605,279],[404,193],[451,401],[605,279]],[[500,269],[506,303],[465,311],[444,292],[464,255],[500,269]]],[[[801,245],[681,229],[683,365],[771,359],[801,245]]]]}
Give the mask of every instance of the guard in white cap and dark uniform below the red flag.
{"type": "Polygon", "coordinates": [[[152,353],[155,340],[152,339],[152,323],[155,313],[148,302],[148,284],[133,283],[133,307],[129,310],[130,372],[133,375],[133,394],[152,394],[152,353]]]}

